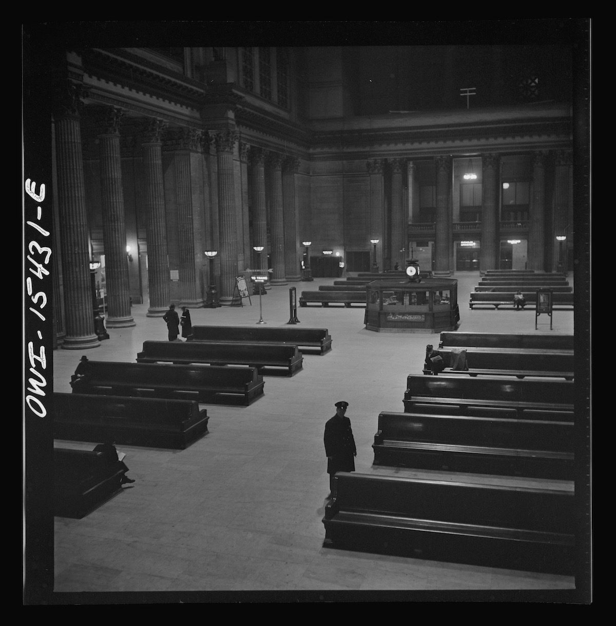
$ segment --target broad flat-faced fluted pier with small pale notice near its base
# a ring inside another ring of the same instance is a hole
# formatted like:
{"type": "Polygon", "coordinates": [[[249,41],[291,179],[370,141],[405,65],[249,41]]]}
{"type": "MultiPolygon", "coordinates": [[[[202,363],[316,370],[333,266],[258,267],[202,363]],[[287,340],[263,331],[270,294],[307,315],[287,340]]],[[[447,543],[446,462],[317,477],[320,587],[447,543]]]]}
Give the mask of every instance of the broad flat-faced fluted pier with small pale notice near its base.
{"type": "Polygon", "coordinates": [[[178,208],[179,289],[181,304],[203,306],[200,269],[203,251],[198,248],[198,207],[193,205],[193,158],[201,149],[201,131],[194,128],[178,129],[168,142],[173,150],[178,208]]]}

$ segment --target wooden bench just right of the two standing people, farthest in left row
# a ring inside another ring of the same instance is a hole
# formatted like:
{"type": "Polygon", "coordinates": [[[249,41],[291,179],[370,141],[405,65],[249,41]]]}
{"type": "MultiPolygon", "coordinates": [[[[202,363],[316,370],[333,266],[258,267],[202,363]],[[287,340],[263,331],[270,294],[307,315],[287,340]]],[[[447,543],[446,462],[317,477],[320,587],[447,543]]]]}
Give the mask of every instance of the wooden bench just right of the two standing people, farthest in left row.
{"type": "Polygon", "coordinates": [[[331,336],[326,328],[297,328],[295,326],[256,327],[245,326],[193,326],[193,336],[188,341],[223,341],[240,343],[286,343],[298,347],[318,349],[320,354],[331,350],[331,336]]]}

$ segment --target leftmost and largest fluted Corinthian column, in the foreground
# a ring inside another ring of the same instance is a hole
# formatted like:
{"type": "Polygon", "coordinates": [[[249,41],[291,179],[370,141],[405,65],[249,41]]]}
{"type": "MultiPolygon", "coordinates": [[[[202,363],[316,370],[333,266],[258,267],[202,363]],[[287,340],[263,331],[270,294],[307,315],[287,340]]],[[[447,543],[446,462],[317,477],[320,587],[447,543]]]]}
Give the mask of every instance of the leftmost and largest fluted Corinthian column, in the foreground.
{"type": "Polygon", "coordinates": [[[56,157],[58,163],[58,212],[66,336],[64,350],[101,345],[94,334],[93,295],[90,284],[90,253],[86,194],[81,156],[79,108],[83,86],[67,83],[56,101],[56,157]]]}

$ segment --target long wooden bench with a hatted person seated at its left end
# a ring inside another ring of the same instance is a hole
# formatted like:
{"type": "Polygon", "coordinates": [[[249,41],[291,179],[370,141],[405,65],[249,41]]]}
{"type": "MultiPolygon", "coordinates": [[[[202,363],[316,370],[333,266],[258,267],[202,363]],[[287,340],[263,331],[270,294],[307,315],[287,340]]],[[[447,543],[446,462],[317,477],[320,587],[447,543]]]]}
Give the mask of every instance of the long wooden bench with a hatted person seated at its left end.
{"type": "Polygon", "coordinates": [[[79,394],[196,399],[204,404],[247,406],[263,395],[263,376],[256,367],[88,361],[86,376],[71,381],[71,387],[79,394]]]}

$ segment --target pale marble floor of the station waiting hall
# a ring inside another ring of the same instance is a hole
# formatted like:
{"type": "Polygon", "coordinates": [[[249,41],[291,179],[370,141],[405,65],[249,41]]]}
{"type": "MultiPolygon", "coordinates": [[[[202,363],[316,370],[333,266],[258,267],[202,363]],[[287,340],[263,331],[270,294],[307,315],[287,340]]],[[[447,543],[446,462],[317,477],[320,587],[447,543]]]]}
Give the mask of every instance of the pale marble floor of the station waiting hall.
{"type": "MultiPolygon", "coordinates": [[[[460,331],[550,332],[547,316],[535,331],[532,310],[469,310],[478,273],[455,278],[460,331]]],[[[332,282],[271,287],[262,299],[263,320],[288,322],[290,287],[299,299],[301,290],[332,282]]],[[[84,353],[91,360],[134,361],[144,340],[165,341],[166,325],[146,310],[134,305],[136,326],[108,329],[109,340],[84,353]]],[[[298,307],[297,314],[303,327],[329,329],[333,349],[305,354],[295,376],[266,376],[265,395],[250,406],[202,405],[210,432],[185,450],[118,446],[136,482],[82,520],[54,518],[55,593],[66,594],[67,603],[109,602],[108,594],[118,603],[319,602],[527,600],[525,594],[549,600],[550,593],[560,598],[575,590],[575,578],[562,575],[324,548],[323,428],[341,399],[350,405],[358,472],[562,490],[573,490],[573,483],[373,467],[378,414],[403,411],[406,375],[422,371],[425,346],[437,345],[438,334],[368,331],[361,307],[298,307]]],[[[260,317],[259,299],[191,315],[193,324],[251,326],[260,317]]],[[[552,323],[551,332],[573,332],[573,312],[555,311],[552,323]]],[[[55,391],[71,391],[81,354],[53,352],[55,391]]],[[[95,443],[54,445],[91,449],[95,443]]]]}

